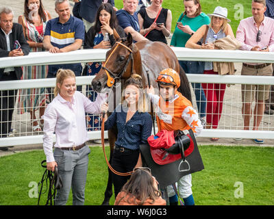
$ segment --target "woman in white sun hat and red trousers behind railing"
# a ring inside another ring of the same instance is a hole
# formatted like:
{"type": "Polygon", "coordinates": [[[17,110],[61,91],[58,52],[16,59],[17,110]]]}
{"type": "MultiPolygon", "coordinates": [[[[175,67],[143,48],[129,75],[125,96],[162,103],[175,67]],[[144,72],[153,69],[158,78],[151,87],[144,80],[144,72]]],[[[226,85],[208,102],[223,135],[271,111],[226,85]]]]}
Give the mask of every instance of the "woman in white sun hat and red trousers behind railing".
{"type": "MultiPolygon", "coordinates": [[[[227,8],[217,6],[212,14],[211,22],[207,31],[207,25],[201,26],[195,34],[186,42],[186,47],[192,49],[215,49],[214,41],[225,38],[226,36],[234,37],[232,27],[227,23],[230,20],[227,18],[227,8]],[[206,43],[199,45],[197,42],[206,37],[206,43]]],[[[205,70],[203,74],[218,75],[214,72],[212,62],[205,63],[205,70]]],[[[206,129],[217,129],[219,120],[223,110],[223,96],[225,94],[225,83],[202,83],[203,90],[206,94],[206,129]]],[[[211,138],[212,141],[219,140],[218,138],[211,138]]]]}

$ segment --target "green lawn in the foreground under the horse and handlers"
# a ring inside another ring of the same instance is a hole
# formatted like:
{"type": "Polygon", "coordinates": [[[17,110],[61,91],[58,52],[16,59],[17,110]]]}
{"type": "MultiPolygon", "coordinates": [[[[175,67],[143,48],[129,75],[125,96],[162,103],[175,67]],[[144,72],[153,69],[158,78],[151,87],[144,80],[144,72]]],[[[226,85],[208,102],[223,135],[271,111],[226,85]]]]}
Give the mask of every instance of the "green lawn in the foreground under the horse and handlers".
{"type": "MultiPolygon", "coordinates": [[[[101,205],[108,171],[101,147],[92,147],[86,183],[86,205],[101,205]]],[[[241,146],[199,146],[205,170],[192,174],[196,205],[273,205],[274,149],[241,146]],[[242,182],[243,198],[234,183],[242,182]]],[[[106,150],[108,152],[108,149],[106,150]]],[[[0,157],[0,205],[36,205],[29,183],[38,183],[44,168],[42,151],[0,157]]],[[[45,195],[42,196],[45,201],[45,195]]],[[[68,205],[71,205],[70,196],[68,205]]],[[[110,204],[113,205],[112,196],[110,204]]]]}

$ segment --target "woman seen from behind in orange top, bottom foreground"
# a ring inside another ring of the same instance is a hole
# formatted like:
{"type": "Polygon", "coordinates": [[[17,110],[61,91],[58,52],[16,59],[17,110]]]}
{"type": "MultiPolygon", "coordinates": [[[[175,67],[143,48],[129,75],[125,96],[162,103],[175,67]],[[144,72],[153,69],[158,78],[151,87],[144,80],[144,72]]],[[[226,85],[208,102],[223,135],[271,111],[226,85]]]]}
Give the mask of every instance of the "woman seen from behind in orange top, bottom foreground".
{"type": "Polygon", "coordinates": [[[114,205],[166,205],[158,190],[158,181],[149,168],[134,168],[115,199],[114,205]]]}

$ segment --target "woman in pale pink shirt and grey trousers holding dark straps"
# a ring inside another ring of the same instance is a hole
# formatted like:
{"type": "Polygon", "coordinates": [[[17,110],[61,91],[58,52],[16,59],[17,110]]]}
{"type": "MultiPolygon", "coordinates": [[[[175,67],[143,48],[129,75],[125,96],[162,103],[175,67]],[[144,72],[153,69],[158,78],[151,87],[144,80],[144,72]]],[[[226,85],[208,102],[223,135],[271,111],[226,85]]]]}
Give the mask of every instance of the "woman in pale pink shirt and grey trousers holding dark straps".
{"type": "Polygon", "coordinates": [[[55,98],[47,106],[44,119],[43,147],[47,157],[47,169],[58,166],[63,187],[57,190],[55,205],[65,205],[72,188],[73,205],[84,205],[88,154],[90,149],[85,113],[99,114],[106,94],[98,94],[95,102],[76,91],[72,70],[59,69],[56,75],[55,98]],[[53,152],[53,134],[55,149],[53,152]]]}

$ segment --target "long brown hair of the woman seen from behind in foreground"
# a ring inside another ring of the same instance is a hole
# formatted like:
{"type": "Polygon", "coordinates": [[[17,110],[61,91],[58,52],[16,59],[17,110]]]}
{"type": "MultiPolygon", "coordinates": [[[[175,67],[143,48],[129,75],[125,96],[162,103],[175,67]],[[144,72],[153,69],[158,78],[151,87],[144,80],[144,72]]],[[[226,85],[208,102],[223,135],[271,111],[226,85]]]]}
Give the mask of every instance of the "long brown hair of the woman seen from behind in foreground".
{"type": "Polygon", "coordinates": [[[161,196],[159,190],[153,185],[153,178],[147,170],[136,169],[132,173],[129,181],[125,183],[121,192],[125,192],[125,196],[117,202],[117,205],[129,194],[127,203],[134,203],[134,205],[143,205],[147,198],[150,198],[151,204],[161,196]]]}

